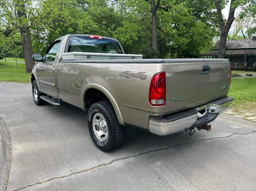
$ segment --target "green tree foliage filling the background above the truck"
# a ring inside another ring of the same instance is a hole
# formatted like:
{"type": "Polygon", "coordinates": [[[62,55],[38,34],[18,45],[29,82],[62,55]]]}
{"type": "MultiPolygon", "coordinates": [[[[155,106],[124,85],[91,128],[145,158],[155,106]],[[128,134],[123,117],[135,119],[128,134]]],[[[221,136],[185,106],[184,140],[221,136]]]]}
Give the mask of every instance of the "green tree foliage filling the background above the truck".
{"type": "MultiPolygon", "coordinates": [[[[144,58],[198,57],[212,49],[219,36],[212,0],[161,0],[156,12],[157,52],[151,47],[150,0],[26,0],[27,17],[15,20],[12,5],[20,2],[0,0],[1,5],[7,5],[0,7],[0,55],[23,57],[22,26],[30,28],[33,52],[42,54],[54,39],[81,33],[114,37],[126,53],[143,54],[144,58]]],[[[254,4],[255,0],[236,2],[234,6],[242,11],[229,39],[248,38],[256,32],[254,4]],[[252,26],[242,35],[239,22],[248,16],[252,26]]]]}

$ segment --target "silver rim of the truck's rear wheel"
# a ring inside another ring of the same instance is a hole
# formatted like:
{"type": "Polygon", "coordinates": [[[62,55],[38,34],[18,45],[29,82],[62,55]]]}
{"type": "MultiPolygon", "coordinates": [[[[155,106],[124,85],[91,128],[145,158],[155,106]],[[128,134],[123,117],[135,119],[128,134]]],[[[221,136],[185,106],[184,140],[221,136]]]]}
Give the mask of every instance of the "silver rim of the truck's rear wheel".
{"type": "Polygon", "coordinates": [[[108,138],[108,125],[102,114],[96,113],[92,118],[93,132],[100,141],[108,138]]]}

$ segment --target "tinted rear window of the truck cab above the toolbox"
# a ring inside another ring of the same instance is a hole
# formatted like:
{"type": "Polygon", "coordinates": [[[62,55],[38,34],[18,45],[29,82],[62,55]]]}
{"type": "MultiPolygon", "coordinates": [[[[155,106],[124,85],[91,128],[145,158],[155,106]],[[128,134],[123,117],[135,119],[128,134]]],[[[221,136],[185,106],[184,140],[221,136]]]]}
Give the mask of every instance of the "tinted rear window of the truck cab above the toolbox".
{"type": "Polygon", "coordinates": [[[68,43],[68,52],[92,52],[122,54],[118,41],[112,39],[99,39],[75,36],[68,43]]]}

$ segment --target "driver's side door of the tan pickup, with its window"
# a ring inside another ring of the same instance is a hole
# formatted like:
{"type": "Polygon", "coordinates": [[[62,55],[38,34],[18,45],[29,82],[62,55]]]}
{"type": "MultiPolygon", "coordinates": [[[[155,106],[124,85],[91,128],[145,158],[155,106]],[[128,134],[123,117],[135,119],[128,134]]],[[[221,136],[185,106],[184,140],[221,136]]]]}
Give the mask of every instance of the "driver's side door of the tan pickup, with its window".
{"type": "Polygon", "coordinates": [[[44,55],[42,65],[38,68],[38,83],[42,93],[57,97],[57,88],[55,83],[56,66],[58,64],[58,51],[60,41],[54,41],[47,49],[44,55]],[[56,59],[55,59],[56,58],[56,59]]]}

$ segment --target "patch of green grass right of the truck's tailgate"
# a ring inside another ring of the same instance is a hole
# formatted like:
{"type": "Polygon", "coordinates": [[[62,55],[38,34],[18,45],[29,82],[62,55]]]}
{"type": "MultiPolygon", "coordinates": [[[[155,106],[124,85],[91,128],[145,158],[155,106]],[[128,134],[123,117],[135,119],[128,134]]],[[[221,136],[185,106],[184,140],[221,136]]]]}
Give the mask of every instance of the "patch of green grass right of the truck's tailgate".
{"type": "Polygon", "coordinates": [[[256,112],[256,78],[232,78],[229,96],[235,98],[232,108],[256,112]]]}

